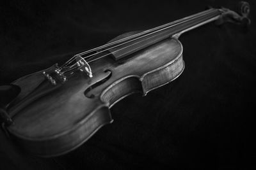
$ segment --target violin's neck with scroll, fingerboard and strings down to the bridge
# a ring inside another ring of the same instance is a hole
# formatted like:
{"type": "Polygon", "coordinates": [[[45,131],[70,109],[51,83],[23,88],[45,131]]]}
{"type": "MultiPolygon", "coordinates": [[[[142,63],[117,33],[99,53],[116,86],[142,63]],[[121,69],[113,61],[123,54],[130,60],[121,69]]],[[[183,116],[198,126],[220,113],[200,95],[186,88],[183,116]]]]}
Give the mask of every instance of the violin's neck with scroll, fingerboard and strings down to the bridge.
{"type": "Polygon", "coordinates": [[[250,13],[250,6],[248,3],[242,1],[240,6],[239,13],[235,11],[228,10],[227,8],[214,9],[211,8],[206,11],[202,11],[200,13],[196,13],[195,15],[191,15],[189,17],[182,18],[180,20],[176,20],[174,22],[170,22],[168,24],[161,25],[159,27],[148,29],[147,31],[140,32],[138,34],[133,34],[132,36],[128,36],[122,39],[118,39],[116,41],[112,41],[106,45],[98,46],[86,52],[77,53],[70,60],[65,62],[60,69],[64,67],[71,68],[74,66],[70,64],[79,58],[79,60],[85,59],[89,62],[93,62],[94,60],[101,59],[102,57],[106,57],[108,55],[102,55],[99,58],[93,58],[93,54],[90,53],[97,52],[102,53],[108,51],[111,53],[115,60],[122,59],[131,53],[138,52],[147,46],[153,45],[159,41],[162,41],[166,38],[179,38],[180,34],[187,32],[191,29],[195,29],[201,25],[207,24],[216,20],[216,24],[223,24],[224,22],[234,22],[235,24],[246,24],[246,26],[250,25],[250,19],[248,15],[250,13]],[[85,56],[85,57],[83,57],[85,56]]]}

